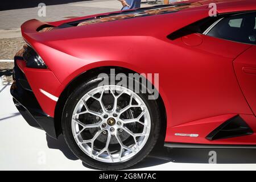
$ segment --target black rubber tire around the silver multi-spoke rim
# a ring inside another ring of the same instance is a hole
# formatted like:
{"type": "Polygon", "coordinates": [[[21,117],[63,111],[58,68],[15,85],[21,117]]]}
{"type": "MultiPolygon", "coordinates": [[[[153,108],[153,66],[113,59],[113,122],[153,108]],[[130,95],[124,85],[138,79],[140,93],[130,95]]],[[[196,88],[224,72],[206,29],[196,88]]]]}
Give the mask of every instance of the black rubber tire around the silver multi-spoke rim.
{"type": "Polygon", "coordinates": [[[117,162],[117,163],[104,163],[100,162],[98,160],[95,160],[93,158],[90,158],[90,156],[86,155],[81,148],[77,145],[75,138],[72,134],[71,129],[71,121],[72,121],[72,114],[73,110],[75,109],[75,106],[77,105],[77,102],[90,90],[97,88],[98,83],[103,78],[91,78],[90,80],[86,81],[84,84],[80,85],[77,88],[74,88],[74,91],[71,93],[71,95],[68,97],[64,109],[63,109],[63,115],[62,115],[62,130],[64,138],[71,149],[71,151],[77,156],[77,158],[81,159],[82,162],[85,164],[97,168],[97,169],[106,169],[106,170],[113,170],[113,169],[123,169],[123,168],[129,168],[131,166],[134,166],[138,162],[140,162],[142,159],[144,159],[152,150],[152,148],[155,146],[156,142],[159,138],[160,133],[160,127],[161,127],[161,117],[160,117],[160,111],[156,100],[148,100],[148,94],[141,94],[139,93],[138,96],[142,98],[144,103],[146,104],[148,111],[150,113],[150,119],[151,119],[151,130],[149,137],[147,139],[146,144],[143,146],[143,148],[133,156],[133,158],[126,160],[125,162],[117,162]]]}

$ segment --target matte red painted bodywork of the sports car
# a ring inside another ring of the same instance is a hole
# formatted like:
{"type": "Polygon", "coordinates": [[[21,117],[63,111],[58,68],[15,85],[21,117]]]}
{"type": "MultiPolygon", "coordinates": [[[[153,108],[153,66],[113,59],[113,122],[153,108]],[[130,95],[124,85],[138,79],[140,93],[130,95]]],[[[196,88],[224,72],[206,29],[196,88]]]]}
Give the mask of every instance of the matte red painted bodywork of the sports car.
{"type": "MultiPolygon", "coordinates": [[[[27,68],[17,61],[43,111],[54,117],[57,102],[39,89],[60,97],[67,85],[93,68],[116,66],[138,73],[159,73],[159,93],[167,114],[166,142],[256,144],[256,47],[191,34],[176,40],[167,35],[208,16],[210,2],[218,13],[256,10],[254,0],[201,1],[176,13],[115,20],[88,26],[37,32],[38,20],[22,25],[24,39],[48,69],[27,68]],[[127,31],[129,30],[129,31],[127,31]],[[207,140],[227,119],[240,114],[254,134],[207,140]],[[175,133],[196,133],[197,138],[175,133]]],[[[65,22],[92,16],[51,22],[65,22]]]]}

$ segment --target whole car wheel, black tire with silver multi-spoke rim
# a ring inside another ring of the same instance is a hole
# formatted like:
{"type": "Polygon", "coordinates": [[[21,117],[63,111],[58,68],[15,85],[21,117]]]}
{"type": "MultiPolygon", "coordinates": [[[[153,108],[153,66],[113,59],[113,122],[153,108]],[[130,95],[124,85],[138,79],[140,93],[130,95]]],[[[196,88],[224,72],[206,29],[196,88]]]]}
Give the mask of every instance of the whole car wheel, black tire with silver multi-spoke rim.
{"type": "Polygon", "coordinates": [[[141,161],[160,133],[160,114],[148,94],[93,78],[69,96],[63,134],[83,162],[98,169],[122,169],[141,161]],[[153,112],[154,110],[154,112],[153,112]]]}

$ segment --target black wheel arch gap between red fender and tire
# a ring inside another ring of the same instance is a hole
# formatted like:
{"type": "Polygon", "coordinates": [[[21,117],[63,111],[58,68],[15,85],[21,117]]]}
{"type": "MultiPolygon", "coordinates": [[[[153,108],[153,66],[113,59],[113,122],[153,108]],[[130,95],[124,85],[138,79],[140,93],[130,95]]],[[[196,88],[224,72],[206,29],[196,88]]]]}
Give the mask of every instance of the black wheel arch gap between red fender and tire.
{"type": "MultiPolygon", "coordinates": [[[[72,93],[73,88],[76,88],[77,86],[81,85],[85,80],[88,80],[91,77],[97,76],[99,73],[109,73],[110,69],[115,69],[115,73],[137,73],[131,69],[127,69],[124,67],[97,67],[89,69],[86,72],[81,73],[79,76],[73,78],[71,82],[65,87],[63,92],[61,92],[59,96],[59,100],[57,101],[56,107],[55,107],[55,131],[56,136],[59,137],[60,134],[62,134],[62,126],[61,126],[61,117],[63,114],[63,108],[65,105],[65,102],[67,101],[69,95],[72,93]]],[[[159,137],[160,143],[164,143],[164,139],[166,137],[166,127],[167,127],[167,114],[166,114],[166,107],[164,105],[164,101],[159,93],[159,97],[157,99],[159,110],[161,114],[163,115],[162,118],[162,127],[160,134],[163,134],[159,137]]],[[[159,142],[158,142],[159,143],[159,142]]]]}

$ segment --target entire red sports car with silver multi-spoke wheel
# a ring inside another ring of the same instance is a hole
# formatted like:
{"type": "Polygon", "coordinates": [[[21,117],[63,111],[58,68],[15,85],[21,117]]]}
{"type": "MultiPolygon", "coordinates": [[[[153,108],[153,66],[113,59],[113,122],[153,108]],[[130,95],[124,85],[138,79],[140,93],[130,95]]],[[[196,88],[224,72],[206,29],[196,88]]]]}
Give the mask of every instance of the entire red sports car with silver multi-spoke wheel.
{"type": "Polygon", "coordinates": [[[11,94],[94,168],[133,166],[163,144],[256,148],[255,22],[255,0],[28,20],[11,94]]]}

